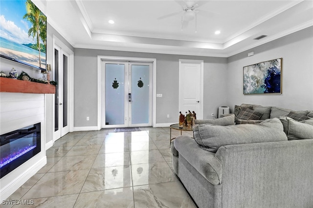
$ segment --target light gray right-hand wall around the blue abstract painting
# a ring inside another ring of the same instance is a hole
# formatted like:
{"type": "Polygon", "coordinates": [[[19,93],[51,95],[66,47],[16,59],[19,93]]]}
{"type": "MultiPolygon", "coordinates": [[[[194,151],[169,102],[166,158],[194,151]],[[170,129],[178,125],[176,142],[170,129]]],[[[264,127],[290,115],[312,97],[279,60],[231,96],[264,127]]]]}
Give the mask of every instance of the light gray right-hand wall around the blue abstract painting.
{"type": "Polygon", "coordinates": [[[227,58],[227,105],[252,103],[313,109],[313,27],[227,58]],[[254,51],[254,56],[247,57],[254,51]],[[243,95],[243,67],[283,58],[281,95],[243,95]]]}

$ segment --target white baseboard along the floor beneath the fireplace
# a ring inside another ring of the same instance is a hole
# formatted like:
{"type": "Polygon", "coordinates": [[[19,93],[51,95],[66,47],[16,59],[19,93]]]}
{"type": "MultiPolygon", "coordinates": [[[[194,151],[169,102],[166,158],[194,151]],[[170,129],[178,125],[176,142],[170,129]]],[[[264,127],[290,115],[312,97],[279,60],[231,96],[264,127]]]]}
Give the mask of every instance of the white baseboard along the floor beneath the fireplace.
{"type": "MultiPolygon", "coordinates": [[[[42,167],[45,166],[47,162],[46,156],[36,162],[34,165],[25,170],[19,177],[13,179],[9,184],[5,187],[1,187],[0,191],[0,201],[7,199],[12,193],[14,193],[17,189],[19,189],[29,178],[38,172],[42,167]]],[[[6,175],[7,176],[7,175],[6,175]]],[[[5,178],[4,176],[3,178],[5,178]]],[[[1,180],[3,179],[1,178],[1,180]]]]}

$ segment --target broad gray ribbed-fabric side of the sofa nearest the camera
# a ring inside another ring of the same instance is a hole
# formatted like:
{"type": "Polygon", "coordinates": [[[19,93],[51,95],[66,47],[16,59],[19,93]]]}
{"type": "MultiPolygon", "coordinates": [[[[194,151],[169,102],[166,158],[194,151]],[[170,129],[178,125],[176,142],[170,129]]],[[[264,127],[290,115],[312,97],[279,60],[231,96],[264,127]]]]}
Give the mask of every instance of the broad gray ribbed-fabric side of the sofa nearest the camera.
{"type": "Polygon", "coordinates": [[[225,207],[250,207],[242,199],[251,198],[263,207],[312,206],[313,139],[226,145],[216,157],[223,163],[225,207]]]}

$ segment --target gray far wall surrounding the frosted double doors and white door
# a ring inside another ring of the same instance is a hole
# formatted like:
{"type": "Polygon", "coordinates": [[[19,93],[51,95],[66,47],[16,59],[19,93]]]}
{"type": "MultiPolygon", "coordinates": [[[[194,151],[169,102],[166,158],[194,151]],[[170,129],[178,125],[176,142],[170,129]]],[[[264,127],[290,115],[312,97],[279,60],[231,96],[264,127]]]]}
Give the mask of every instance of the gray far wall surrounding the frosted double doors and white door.
{"type": "Polygon", "coordinates": [[[226,104],[226,58],[74,49],[74,127],[97,126],[97,56],[156,58],[156,123],[177,123],[179,59],[204,60],[204,114],[226,104]],[[167,118],[170,114],[170,118],[167,118]],[[86,117],[89,116],[89,121],[86,117]]]}

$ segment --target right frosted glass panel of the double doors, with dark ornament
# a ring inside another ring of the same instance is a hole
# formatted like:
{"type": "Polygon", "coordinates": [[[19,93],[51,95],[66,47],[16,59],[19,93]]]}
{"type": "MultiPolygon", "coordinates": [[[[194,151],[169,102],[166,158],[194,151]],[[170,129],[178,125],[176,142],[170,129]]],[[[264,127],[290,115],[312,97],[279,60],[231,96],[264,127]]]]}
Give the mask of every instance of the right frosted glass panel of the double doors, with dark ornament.
{"type": "Polygon", "coordinates": [[[149,65],[132,65],[132,124],[149,123],[149,65]]]}

